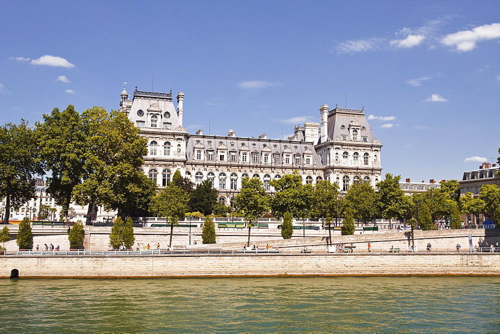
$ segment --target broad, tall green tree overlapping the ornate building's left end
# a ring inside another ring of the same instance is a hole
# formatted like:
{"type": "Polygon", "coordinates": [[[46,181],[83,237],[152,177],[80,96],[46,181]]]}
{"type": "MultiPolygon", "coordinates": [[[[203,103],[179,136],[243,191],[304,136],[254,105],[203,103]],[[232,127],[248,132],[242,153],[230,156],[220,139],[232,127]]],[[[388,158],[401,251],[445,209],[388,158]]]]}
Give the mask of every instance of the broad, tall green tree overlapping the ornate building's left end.
{"type": "Polygon", "coordinates": [[[112,208],[118,201],[124,180],[134,176],[144,162],[147,139],[128,120],[126,114],[94,106],[81,114],[86,148],[83,152],[83,178],[73,188],[74,200],[88,204],[87,222],[95,205],[112,208]]]}

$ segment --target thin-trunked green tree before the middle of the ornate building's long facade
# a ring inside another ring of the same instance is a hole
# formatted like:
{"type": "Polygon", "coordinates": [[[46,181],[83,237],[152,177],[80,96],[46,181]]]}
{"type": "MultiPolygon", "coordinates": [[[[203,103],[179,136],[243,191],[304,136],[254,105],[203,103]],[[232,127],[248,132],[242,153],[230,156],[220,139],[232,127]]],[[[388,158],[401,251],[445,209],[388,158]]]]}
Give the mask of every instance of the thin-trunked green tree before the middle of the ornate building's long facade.
{"type": "Polygon", "coordinates": [[[262,182],[258,178],[243,177],[240,193],[236,195],[234,204],[240,209],[248,220],[248,241],[250,246],[250,228],[257,218],[269,210],[269,195],[265,193],[262,182]]]}

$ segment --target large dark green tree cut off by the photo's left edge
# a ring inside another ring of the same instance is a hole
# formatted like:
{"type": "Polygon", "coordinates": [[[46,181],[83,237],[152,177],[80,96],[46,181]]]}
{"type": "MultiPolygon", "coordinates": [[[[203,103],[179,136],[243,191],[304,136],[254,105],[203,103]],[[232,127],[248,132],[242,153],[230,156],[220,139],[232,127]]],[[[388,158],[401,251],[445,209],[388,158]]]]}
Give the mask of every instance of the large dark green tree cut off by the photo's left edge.
{"type": "Polygon", "coordinates": [[[36,198],[35,175],[44,173],[38,154],[36,131],[21,120],[19,125],[0,127],[0,197],[5,198],[3,223],[8,223],[10,207],[18,208],[36,198]]]}

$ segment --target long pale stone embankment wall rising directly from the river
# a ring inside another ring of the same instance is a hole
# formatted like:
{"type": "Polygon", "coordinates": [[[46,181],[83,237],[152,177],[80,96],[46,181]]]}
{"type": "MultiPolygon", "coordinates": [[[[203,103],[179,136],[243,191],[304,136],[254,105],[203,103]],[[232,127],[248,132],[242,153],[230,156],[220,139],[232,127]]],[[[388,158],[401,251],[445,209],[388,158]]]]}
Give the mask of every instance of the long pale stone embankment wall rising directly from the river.
{"type": "Polygon", "coordinates": [[[499,274],[498,253],[0,256],[0,277],[499,274]]]}

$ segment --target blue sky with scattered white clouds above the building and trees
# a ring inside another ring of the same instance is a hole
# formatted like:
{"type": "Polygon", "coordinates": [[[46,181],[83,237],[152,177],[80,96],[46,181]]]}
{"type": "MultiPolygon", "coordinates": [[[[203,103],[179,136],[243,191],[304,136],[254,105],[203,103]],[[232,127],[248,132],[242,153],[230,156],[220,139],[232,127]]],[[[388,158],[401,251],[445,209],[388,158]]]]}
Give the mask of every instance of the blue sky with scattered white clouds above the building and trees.
{"type": "Polygon", "coordinates": [[[0,123],[184,92],[190,133],[281,138],[361,109],[382,173],[461,179],[500,146],[500,1],[0,0],[0,123]]]}

